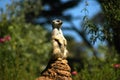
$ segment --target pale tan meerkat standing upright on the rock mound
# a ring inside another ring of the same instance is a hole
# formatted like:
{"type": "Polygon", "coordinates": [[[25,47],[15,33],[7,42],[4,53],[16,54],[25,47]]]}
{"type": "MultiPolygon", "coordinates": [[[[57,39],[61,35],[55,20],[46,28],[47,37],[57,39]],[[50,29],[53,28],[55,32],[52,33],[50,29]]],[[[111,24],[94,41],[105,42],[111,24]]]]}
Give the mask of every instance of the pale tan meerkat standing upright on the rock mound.
{"type": "Polygon", "coordinates": [[[55,19],[52,21],[52,45],[53,45],[53,54],[54,59],[67,57],[68,50],[66,49],[67,40],[63,36],[62,30],[62,21],[55,19]]]}

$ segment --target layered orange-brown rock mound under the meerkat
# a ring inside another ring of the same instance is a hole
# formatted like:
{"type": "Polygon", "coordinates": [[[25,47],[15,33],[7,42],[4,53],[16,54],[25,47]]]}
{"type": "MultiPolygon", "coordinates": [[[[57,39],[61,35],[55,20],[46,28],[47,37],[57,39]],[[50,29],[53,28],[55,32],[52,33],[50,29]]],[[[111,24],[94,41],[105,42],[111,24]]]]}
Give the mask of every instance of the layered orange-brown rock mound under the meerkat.
{"type": "Polygon", "coordinates": [[[50,61],[36,80],[72,80],[70,71],[67,60],[50,61]]]}

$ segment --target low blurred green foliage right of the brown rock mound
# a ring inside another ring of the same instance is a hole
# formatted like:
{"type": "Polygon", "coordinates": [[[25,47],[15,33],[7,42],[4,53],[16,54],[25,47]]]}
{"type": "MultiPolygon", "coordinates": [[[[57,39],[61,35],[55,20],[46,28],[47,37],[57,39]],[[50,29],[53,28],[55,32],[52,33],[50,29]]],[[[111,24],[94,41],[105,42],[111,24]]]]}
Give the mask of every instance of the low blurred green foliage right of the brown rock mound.
{"type": "Polygon", "coordinates": [[[112,58],[109,61],[89,60],[90,63],[85,64],[85,68],[73,76],[73,80],[118,80],[120,67],[114,68],[112,58]]]}

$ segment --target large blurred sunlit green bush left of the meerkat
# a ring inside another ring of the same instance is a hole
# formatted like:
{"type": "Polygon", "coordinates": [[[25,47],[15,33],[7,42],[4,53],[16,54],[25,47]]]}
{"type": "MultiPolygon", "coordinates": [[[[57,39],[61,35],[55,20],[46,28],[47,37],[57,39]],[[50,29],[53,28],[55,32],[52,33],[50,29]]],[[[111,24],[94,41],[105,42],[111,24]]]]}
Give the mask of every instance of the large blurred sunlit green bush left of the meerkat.
{"type": "Polygon", "coordinates": [[[34,80],[47,65],[51,43],[42,26],[15,14],[0,15],[0,39],[9,36],[0,42],[0,80],[34,80]]]}

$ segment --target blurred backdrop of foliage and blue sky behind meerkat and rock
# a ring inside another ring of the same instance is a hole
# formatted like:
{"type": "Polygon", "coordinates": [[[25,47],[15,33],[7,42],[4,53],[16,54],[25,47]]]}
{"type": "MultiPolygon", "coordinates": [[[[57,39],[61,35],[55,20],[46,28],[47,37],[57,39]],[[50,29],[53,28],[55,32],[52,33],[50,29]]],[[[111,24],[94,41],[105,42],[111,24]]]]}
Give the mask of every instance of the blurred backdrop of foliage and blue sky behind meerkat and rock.
{"type": "Polygon", "coordinates": [[[120,79],[119,0],[0,0],[0,5],[0,80],[40,76],[52,52],[51,20],[56,18],[65,22],[73,80],[120,79]],[[89,17],[92,11],[97,13],[89,17]]]}

